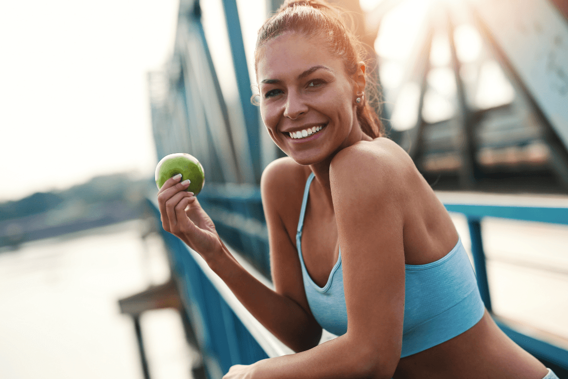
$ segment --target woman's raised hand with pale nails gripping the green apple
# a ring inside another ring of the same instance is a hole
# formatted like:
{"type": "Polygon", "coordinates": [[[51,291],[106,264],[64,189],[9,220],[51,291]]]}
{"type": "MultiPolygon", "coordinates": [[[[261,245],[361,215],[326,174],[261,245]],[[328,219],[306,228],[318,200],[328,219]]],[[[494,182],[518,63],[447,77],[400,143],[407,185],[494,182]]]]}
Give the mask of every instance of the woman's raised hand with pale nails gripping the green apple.
{"type": "Polygon", "coordinates": [[[169,178],[158,191],[162,227],[208,261],[221,251],[223,243],[197,198],[186,191],[189,180],[179,180],[181,174],[169,178]]]}

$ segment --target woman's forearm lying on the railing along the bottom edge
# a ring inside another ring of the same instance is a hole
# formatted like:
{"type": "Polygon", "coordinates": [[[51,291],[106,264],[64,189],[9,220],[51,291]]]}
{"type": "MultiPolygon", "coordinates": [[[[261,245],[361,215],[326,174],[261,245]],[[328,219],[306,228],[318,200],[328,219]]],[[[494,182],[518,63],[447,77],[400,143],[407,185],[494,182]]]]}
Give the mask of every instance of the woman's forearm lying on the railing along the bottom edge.
{"type": "Polygon", "coordinates": [[[258,361],[252,379],[390,379],[374,355],[343,335],[308,351],[258,361]]]}

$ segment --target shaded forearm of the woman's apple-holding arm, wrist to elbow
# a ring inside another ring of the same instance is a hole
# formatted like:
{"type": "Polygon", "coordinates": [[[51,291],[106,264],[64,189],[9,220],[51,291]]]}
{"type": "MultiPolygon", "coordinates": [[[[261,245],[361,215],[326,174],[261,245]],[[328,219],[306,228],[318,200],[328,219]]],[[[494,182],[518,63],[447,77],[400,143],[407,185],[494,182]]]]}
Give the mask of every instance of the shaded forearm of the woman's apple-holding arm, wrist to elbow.
{"type": "Polygon", "coordinates": [[[213,259],[207,260],[207,264],[254,318],[289,348],[298,352],[318,344],[321,328],[306,311],[292,299],[258,281],[226,247],[213,259]]]}

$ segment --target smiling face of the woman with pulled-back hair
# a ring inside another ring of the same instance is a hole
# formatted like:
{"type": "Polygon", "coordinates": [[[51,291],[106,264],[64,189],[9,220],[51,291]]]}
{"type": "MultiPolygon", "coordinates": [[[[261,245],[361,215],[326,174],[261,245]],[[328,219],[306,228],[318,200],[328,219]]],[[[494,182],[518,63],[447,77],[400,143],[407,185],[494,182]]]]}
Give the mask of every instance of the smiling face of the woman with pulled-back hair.
{"type": "Polygon", "coordinates": [[[315,164],[361,139],[357,84],[318,38],[284,34],[260,53],[262,120],[283,152],[299,164],[315,164]],[[302,138],[302,131],[308,136],[302,138]]]}

